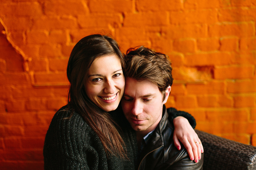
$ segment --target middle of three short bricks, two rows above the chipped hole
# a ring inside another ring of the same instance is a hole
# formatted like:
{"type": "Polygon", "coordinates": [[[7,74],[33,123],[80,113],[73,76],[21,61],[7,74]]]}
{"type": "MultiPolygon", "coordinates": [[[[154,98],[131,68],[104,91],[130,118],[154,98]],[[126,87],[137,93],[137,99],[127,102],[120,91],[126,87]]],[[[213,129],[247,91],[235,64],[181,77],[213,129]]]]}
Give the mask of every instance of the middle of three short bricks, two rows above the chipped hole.
{"type": "Polygon", "coordinates": [[[197,40],[197,49],[201,51],[216,51],[220,48],[217,38],[201,38],[197,40]]]}

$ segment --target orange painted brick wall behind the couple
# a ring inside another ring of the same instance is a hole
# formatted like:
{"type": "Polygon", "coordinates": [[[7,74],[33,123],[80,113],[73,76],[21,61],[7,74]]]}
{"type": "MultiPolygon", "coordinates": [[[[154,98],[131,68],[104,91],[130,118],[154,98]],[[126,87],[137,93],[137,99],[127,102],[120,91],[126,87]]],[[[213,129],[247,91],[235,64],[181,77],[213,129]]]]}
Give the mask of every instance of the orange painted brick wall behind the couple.
{"type": "Polygon", "coordinates": [[[256,146],[255,21],[255,0],[0,0],[0,169],[43,169],[70,51],[104,32],[170,56],[167,106],[197,129],[256,146]]]}

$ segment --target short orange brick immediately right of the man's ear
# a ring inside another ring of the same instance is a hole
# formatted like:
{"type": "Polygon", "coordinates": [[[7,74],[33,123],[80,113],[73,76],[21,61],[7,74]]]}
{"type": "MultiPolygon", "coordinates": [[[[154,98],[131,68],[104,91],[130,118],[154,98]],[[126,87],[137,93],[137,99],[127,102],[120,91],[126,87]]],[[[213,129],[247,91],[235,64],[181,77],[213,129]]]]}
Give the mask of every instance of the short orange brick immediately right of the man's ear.
{"type": "Polygon", "coordinates": [[[196,108],[197,102],[195,96],[176,96],[175,105],[177,108],[196,108]]]}

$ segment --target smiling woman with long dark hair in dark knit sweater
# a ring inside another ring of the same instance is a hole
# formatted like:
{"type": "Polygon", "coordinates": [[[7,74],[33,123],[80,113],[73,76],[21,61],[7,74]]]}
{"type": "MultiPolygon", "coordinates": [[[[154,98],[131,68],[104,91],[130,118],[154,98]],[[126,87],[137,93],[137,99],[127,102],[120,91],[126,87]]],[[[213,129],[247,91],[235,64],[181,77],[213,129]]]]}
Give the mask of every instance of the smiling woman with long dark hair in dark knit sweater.
{"type": "Polygon", "coordinates": [[[89,35],[74,46],[68,104],[45,136],[45,169],[123,169],[124,143],[108,113],[123,95],[123,69],[123,54],[108,36],[89,35]]]}

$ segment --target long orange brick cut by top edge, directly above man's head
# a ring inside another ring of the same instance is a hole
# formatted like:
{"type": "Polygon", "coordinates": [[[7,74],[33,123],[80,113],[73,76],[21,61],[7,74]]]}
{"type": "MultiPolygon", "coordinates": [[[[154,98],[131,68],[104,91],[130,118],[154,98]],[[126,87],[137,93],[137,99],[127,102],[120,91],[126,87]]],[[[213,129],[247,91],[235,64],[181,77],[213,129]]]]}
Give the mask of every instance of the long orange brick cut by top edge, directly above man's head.
{"type": "Polygon", "coordinates": [[[162,0],[162,1],[147,1],[147,0],[138,0],[135,1],[136,10],[148,12],[148,11],[159,11],[159,10],[180,10],[183,7],[183,4],[180,0],[162,0]]]}

